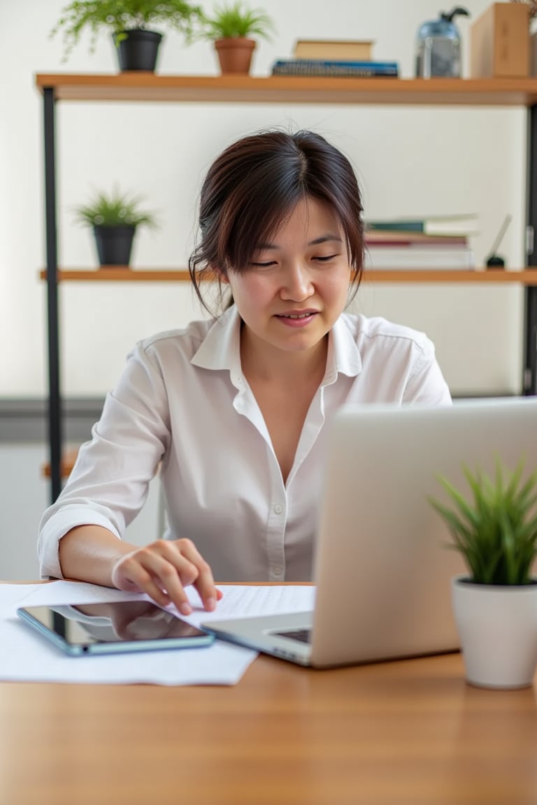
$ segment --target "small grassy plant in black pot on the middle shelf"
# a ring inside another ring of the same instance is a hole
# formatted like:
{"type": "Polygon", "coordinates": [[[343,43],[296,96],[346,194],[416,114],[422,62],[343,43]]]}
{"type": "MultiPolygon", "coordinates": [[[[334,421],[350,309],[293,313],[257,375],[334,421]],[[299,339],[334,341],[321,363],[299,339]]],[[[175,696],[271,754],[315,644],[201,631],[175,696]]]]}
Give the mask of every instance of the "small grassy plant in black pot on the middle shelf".
{"type": "Polygon", "coordinates": [[[116,189],[109,195],[98,192],[89,204],[76,208],[76,219],[93,229],[101,267],[128,267],[138,226],[156,227],[154,213],[144,211],[140,202],[138,196],[116,189]]]}

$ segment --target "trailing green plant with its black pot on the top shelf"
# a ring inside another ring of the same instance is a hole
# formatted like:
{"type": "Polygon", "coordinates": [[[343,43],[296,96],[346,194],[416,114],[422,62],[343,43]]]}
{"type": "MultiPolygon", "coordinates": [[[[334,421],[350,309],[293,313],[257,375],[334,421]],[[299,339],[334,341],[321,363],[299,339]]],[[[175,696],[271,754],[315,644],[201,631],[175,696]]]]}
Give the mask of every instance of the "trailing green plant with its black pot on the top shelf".
{"type": "Polygon", "coordinates": [[[189,0],[73,0],[62,9],[51,36],[64,32],[65,61],[82,31],[90,32],[90,52],[95,50],[98,33],[109,31],[121,70],[154,72],[163,35],[153,31],[153,26],[175,28],[189,42],[202,19],[200,6],[189,0]]]}

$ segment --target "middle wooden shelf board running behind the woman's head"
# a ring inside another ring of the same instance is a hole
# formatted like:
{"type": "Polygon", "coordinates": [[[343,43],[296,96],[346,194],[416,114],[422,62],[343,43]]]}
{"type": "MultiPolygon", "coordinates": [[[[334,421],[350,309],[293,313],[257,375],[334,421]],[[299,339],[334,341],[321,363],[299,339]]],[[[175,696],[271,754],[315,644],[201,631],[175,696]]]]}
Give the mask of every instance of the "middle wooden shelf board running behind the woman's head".
{"type": "MultiPolygon", "coordinates": [[[[47,272],[39,272],[40,279],[47,279],[47,272]]],[[[188,283],[190,276],[185,269],[143,268],[98,268],[62,269],[58,282],[97,283],[188,283]]],[[[366,269],[364,282],[374,283],[479,283],[494,285],[537,285],[537,267],[515,270],[459,270],[459,269],[366,269]]]]}

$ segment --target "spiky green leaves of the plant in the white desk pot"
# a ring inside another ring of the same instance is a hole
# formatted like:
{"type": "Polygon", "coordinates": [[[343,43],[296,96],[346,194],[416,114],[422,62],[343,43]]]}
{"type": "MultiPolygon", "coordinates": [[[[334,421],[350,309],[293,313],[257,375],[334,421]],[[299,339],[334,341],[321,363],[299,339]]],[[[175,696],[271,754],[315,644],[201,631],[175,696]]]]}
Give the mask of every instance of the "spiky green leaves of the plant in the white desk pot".
{"type": "Polygon", "coordinates": [[[523,481],[523,460],[513,473],[505,473],[498,460],[494,477],[463,469],[473,500],[445,477],[439,480],[454,507],[428,498],[452,534],[450,547],[465,559],[474,584],[531,584],[537,557],[537,472],[523,481]]]}

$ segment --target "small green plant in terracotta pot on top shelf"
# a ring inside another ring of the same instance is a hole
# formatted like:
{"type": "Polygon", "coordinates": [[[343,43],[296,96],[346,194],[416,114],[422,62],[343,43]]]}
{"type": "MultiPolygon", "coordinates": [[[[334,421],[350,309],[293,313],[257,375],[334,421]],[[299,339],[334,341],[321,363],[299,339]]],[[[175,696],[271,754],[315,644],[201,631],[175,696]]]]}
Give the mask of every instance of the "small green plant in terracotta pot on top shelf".
{"type": "Polygon", "coordinates": [[[201,36],[214,43],[221,73],[248,75],[256,41],[254,36],[271,39],[275,26],[260,8],[250,8],[242,0],[215,6],[213,14],[204,14],[201,36]]]}

